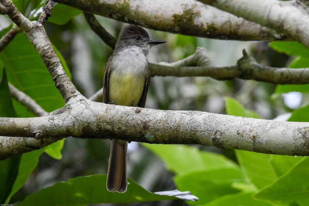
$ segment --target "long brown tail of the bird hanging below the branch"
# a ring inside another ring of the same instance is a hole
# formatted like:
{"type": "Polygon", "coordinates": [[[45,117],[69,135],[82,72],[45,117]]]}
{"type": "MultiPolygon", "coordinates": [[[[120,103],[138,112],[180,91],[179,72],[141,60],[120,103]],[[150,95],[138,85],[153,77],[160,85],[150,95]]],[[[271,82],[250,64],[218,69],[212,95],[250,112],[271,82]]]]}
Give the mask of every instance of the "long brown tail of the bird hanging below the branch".
{"type": "Polygon", "coordinates": [[[127,190],[127,154],[128,142],[112,139],[109,155],[106,188],[110,192],[127,190]]]}

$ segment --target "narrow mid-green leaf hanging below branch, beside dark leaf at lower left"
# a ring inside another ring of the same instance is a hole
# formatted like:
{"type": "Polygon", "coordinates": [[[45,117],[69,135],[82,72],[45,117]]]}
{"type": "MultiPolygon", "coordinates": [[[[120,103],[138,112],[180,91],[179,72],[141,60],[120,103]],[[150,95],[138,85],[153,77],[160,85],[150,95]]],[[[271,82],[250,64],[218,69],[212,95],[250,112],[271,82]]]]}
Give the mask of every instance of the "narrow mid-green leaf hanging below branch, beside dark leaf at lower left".
{"type": "Polygon", "coordinates": [[[27,181],[29,175],[32,173],[34,168],[39,161],[40,155],[44,152],[44,149],[34,150],[32,152],[24,153],[21,155],[18,175],[13,184],[10,195],[7,198],[6,204],[11,199],[11,196],[15,194],[27,181]]]}

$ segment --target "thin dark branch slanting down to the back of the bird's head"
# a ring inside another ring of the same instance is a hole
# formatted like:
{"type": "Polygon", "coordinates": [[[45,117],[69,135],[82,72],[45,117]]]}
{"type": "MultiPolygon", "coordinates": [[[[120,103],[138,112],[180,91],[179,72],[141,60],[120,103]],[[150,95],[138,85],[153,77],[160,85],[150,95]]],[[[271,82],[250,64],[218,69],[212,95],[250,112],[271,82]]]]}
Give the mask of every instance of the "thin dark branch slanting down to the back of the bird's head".
{"type": "Polygon", "coordinates": [[[117,40],[101,26],[95,18],[95,15],[89,12],[84,12],[84,16],[92,31],[94,31],[105,42],[105,44],[114,49],[117,40]]]}

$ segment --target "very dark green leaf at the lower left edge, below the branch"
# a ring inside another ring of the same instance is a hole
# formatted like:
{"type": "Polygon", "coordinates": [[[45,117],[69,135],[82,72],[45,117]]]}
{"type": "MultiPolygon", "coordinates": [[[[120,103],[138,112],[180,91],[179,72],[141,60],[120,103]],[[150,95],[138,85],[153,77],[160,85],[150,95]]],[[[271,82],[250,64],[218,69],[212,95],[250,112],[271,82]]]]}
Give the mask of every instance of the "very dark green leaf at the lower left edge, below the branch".
{"type": "Polygon", "coordinates": [[[18,174],[21,155],[0,161],[0,202],[4,203],[12,191],[18,174]]]}

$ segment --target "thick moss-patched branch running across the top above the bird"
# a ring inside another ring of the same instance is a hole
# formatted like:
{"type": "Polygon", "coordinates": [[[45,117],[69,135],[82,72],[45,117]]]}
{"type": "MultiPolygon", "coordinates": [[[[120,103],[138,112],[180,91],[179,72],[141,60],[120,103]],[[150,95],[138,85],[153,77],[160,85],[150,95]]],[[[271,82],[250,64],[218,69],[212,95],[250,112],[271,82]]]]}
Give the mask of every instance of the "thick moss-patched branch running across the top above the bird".
{"type": "Polygon", "coordinates": [[[290,39],[195,0],[56,1],[118,21],[171,33],[229,40],[290,39]]]}

